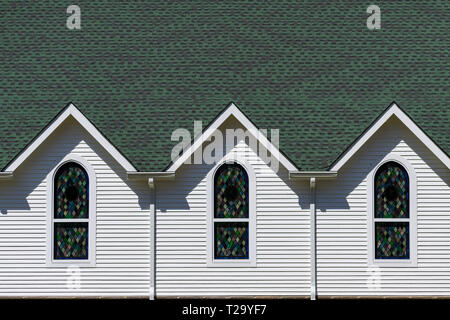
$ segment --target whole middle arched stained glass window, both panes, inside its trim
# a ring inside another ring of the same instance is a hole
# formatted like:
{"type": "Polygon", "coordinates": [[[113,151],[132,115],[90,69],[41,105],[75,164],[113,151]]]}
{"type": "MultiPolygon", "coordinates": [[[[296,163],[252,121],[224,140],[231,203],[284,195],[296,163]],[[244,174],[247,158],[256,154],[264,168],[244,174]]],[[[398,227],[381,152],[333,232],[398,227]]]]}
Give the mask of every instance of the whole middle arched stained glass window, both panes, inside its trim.
{"type": "Polygon", "coordinates": [[[249,259],[249,179],[237,163],[214,175],[214,259],[249,259]]]}

